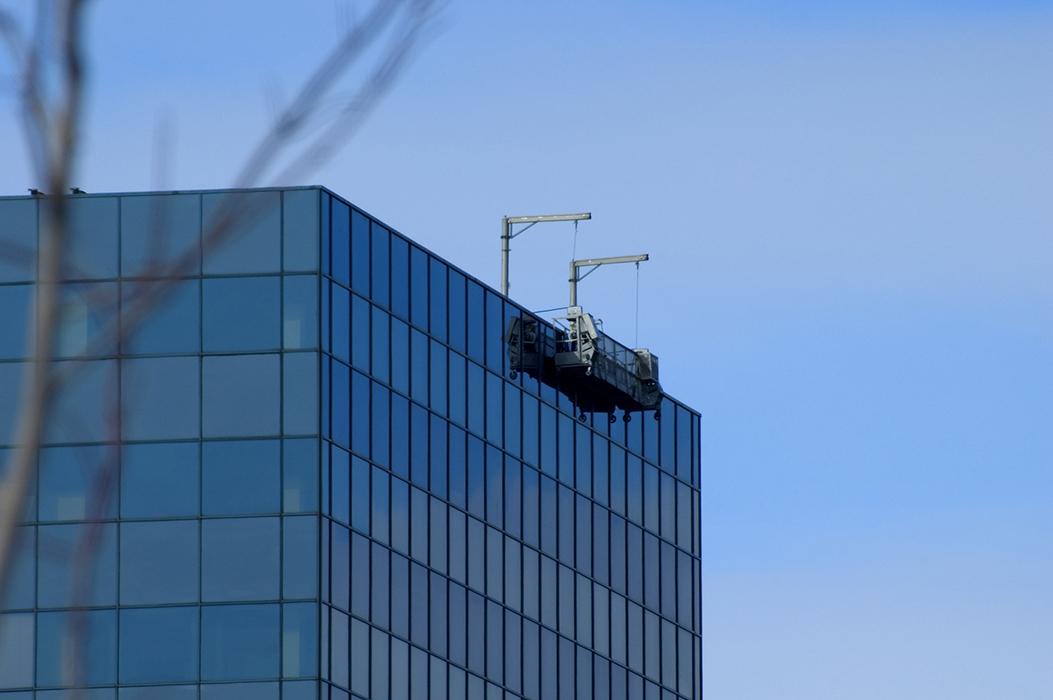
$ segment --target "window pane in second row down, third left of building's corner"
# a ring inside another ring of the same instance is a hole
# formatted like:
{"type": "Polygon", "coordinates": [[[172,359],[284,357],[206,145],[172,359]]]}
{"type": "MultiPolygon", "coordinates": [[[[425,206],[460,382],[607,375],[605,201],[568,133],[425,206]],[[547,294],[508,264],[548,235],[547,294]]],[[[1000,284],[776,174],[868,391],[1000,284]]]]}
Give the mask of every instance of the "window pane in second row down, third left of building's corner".
{"type": "MultiPolygon", "coordinates": [[[[132,300],[148,288],[148,282],[122,282],[125,300],[132,300]]],[[[201,282],[179,280],[170,282],[164,296],[130,334],[124,352],[139,354],[197,353],[201,349],[200,317],[201,282]]],[[[122,313],[127,315],[130,301],[122,313]]],[[[124,321],[127,324],[130,321],[124,321]]],[[[128,328],[125,327],[125,333],[128,328]]]]}

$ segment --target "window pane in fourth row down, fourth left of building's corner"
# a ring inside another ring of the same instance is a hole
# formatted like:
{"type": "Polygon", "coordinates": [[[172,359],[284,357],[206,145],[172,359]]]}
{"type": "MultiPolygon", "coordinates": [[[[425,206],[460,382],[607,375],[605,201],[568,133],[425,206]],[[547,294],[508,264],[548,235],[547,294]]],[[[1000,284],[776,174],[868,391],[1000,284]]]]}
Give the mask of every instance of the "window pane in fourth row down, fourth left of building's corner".
{"type": "Polygon", "coordinates": [[[40,520],[85,520],[101,513],[114,517],[116,499],[108,491],[98,502],[100,479],[116,475],[114,449],[104,446],[45,447],[40,451],[38,513],[40,520]]]}

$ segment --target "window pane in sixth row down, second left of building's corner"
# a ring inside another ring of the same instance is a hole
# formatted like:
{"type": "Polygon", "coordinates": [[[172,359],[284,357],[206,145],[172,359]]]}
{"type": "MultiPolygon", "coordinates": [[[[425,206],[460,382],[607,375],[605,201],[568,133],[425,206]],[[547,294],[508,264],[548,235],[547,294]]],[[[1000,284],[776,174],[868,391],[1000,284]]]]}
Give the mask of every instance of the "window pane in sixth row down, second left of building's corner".
{"type": "Polygon", "coordinates": [[[202,608],[202,679],[276,678],[278,617],[277,605],[213,605],[202,608]]]}

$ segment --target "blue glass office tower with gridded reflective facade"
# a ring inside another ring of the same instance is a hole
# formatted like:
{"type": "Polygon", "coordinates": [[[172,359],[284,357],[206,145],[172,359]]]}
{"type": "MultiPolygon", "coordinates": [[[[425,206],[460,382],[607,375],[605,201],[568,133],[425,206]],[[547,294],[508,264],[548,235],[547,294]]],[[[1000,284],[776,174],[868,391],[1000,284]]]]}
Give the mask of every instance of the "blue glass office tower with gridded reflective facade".
{"type": "MultiPolygon", "coordinates": [[[[0,700],[701,698],[697,413],[582,413],[510,366],[555,327],[324,188],[71,206],[0,700]]],[[[42,214],[0,199],[0,463],[42,214]]]]}

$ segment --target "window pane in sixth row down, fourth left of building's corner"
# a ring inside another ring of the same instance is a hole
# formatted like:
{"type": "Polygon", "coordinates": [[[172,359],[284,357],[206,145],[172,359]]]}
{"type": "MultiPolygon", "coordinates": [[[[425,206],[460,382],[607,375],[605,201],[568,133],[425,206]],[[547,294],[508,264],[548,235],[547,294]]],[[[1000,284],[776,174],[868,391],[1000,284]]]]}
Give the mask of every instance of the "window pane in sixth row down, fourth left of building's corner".
{"type": "Polygon", "coordinates": [[[92,685],[117,679],[117,616],[114,611],[84,611],[80,648],[71,643],[72,613],[37,616],[37,683],[63,685],[67,664],[79,661],[83,682],[92,685]]]}

